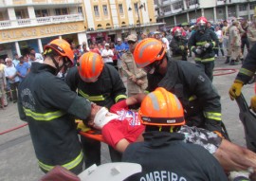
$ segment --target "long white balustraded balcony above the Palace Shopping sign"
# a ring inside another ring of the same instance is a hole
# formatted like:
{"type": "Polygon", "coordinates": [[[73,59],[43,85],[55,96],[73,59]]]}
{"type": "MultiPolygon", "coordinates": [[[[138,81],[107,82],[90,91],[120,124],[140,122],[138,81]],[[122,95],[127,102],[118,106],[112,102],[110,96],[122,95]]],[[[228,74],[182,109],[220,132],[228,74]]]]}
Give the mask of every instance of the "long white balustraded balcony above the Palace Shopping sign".
{"type": "Polygon", "coordinates": [[[60,24],[67,22],[83,21],[82,14],[68,14],[62,16],[47,16],[35,19],[18,19],[0,21],[0,29],[17,28],[17,27],[34,27],[49,24],[60,24]]]}

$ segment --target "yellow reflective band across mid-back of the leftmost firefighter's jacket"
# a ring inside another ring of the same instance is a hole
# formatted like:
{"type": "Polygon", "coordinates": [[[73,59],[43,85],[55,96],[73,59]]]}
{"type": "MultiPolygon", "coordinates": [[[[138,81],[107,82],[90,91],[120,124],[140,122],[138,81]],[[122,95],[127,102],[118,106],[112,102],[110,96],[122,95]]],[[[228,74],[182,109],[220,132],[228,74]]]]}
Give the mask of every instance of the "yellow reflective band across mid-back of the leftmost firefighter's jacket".
{"type": "Polygon", "coordinates": [[[65,115],[65,112],[63,112],[63,111],[48,112],[48,113],[43,114],[43,113],[35,113],[35,112],[31,111],[30,109],[26,109],[25,107],[23,107],[23,110],[27,117],[31,117],[35,120],[49,121],[54,118],[63,117],[65,115]]]}

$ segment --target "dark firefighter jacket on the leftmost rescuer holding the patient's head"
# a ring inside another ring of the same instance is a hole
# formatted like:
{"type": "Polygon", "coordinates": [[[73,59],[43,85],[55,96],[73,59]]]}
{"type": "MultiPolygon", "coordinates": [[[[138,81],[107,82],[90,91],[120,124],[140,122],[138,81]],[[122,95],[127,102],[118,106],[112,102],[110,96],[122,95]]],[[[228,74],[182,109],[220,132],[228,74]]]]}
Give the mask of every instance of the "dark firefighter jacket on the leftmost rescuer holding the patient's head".
{"type": "Polygon", "coordinates": [[[32,63],[19,85],[18,110],[27,121],[39,167],[50,171],[61,165],[67,170],[83,162],[74,118],[86,119],[90,101],[78,97],[45,63],[32,63]]]}

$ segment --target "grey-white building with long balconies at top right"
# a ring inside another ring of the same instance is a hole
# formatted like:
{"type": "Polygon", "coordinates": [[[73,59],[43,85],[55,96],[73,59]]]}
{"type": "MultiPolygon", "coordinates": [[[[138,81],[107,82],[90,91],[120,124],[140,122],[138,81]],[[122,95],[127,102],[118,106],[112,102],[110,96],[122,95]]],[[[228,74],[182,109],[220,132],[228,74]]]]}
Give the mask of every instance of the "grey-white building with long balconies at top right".
{"type": "Polygon", "coordinates": [[[155,0],[157,22],[165,22],[161,28],[170,29],[205,16],[211,23],[243,17],[252,20],[255,0],[155,0]]]}

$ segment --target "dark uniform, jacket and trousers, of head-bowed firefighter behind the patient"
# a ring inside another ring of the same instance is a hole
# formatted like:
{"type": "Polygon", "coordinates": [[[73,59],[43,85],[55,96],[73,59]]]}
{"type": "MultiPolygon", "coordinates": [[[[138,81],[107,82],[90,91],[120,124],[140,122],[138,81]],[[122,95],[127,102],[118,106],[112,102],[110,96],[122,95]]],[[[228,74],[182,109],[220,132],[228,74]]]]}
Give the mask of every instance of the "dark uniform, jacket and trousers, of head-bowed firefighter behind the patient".
{"type": "MultiPolygon", "coordinates": [[[[126,99],[126,88],[119,77],[119,72],[107,63],[95,82],[84,82],[80,78],[77,67],[73,67],[66,75],[66,82],[78,95],[91,100],[98,105],[110,108],[119,100],[126,99]]],[[[81,137],[82,149],[85,155],[85,167],[93,164],[101,165],[101,142],[81,137]]],[[[121,155],[109,147],[112,161],[120,161],[121,155]]]]}

